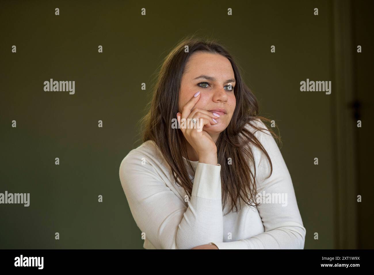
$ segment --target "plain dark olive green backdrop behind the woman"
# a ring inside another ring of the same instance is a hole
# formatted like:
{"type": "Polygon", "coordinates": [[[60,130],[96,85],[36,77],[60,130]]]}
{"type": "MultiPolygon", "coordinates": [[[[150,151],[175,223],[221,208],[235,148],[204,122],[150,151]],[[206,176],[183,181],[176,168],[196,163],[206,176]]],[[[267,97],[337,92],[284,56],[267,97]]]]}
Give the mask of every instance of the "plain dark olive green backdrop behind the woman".
{"type": "MultiPolygon", "coordinates": [[[[1,1],[0,192],[30,193],[30,206],[0,205],[0,248],[142,249],[119,165],[141,144],[137,123],[145,114],[157,67],[180,39],[193,33],[227,46],[259,100],[261,115],[278,124],[281,152],[307,231],[305,248],[348,248],[337,244],[337,209],[344,205],[336,201],[340,171],[334,149],[335,83],[344,80],[334,78],[333,33],[346,30],[334,29],[333,4],[1,1]],[[229,7],[232,16],[227,15],[229,7]],[[313,15],[315,7],[318,16],[313,15]],[[98,53],[98,45],[103,53],[98,53]],[[43,82],[50,78],[74,80],[75,94],[45,92],[43,82]],[[301,92],[300,81],[307,78],[331,80],[331,95],[301,92]],[[146,91],[141,90],[143,82],[146,91]],[[98,128],[98,120],[103,128],[98,128]],[[56,157],[60,165],[55,165],[56,157]],[[315,157],[319,165],[313,165],[315,157]]],[[[352,5],[354,92],[362,103],[363,121],[355,144],[347,144],[358,153],[346,156],[357,160],[355,185],[363,196],[359,221],[352,224],[358,230],[352,236],[358,239],[355,248],[374,248],[373,161],[365,160],[373,152],[368,132],[373,108],[372,10],[372,1],[352,5]],[[362,45],[361,54],[355,45],[362,45]]],[[[344,61],[346,56],[339,58],[344,61]]]]}

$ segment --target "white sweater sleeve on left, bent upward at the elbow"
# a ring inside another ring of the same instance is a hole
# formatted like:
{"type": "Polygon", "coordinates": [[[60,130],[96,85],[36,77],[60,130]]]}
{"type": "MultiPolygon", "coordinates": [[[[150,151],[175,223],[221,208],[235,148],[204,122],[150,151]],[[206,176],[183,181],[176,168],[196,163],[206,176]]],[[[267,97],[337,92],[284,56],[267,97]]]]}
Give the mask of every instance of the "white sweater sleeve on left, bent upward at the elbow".
{"type": "Polygon", "coordinates": [[[222,242],[221,166],[197,164],[186,206],[185,198],[172,192],[151,164],[142,164],[142,158],[130,152],[121,162],[119,177],[145,238],[156,249],[191,249],[222,242]]]}

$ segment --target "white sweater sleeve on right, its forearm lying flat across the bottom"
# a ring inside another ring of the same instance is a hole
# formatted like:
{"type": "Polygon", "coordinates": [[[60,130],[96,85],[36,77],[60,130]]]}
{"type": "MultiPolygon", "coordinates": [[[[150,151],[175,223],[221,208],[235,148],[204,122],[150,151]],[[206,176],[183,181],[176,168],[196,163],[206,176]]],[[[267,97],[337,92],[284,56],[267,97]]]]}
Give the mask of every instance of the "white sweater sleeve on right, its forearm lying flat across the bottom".
{"type": "MultiPolygon", "coordinates": [[[[266,125],[262,123],[262,128],[266,125]]],[[[267,129],[267,128],[266,128],[267,129]]],[[[233,242],[211,242],[219,249],[303,249],[306,229],[298,210],[291,176],[278,145],[269,130],[260,135],[260,141],[269,154],[270,164],[261,152],[257,164],[257,207],[264,226],[264,232],[251,238],[233,242]]]]}

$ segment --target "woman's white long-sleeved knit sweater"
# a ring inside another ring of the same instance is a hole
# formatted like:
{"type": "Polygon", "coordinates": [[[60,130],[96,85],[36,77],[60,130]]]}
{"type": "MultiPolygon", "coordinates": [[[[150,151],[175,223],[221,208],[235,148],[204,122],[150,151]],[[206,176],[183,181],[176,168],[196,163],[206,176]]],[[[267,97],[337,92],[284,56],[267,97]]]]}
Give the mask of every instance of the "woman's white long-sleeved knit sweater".
{"type": "MultiPolygon", "coordinates": [[[[262,122],[261,126],[266,127],[262,122]]],[[[249,124],[247,127],[253,132],[249,124]]],[[[153,141],[148,140],[128,153],[120,164],[119,177],[132,216],[142,232],[139,237],[144,239],[144,248],[191,249],[212,243],[219,249],[304,248],[306,229],[278,145],[269,131],[257,131],[255,135],[272,159],[273,174],[264,179],[270,172],[269,162],[251,144],[257,168],[257,194],[263,197],[262,203],[249,207],[243,202],[240,211],[229,214],[226,213],[230,199],[222,210],[220,164],[189,161],[196,169],[193,173],[183,158],[190,177],[194,176],[189,200],[184,189],[175,184],[153,141]]]]}

